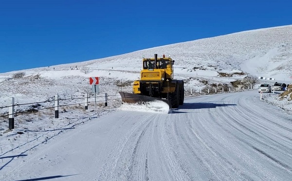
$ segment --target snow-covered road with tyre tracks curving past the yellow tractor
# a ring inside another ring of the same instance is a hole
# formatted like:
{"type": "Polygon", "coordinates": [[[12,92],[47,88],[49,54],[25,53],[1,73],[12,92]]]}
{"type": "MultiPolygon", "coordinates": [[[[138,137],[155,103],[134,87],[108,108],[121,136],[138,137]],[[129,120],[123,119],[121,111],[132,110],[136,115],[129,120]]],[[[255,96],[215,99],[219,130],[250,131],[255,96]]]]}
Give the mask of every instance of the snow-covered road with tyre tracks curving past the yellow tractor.
{"type": "Polygon", "coordinates": [[[292,115],[257,91],[186,98],[171,114],[111,112],[17,161],[0,180],[291,181],[292,115]]]}

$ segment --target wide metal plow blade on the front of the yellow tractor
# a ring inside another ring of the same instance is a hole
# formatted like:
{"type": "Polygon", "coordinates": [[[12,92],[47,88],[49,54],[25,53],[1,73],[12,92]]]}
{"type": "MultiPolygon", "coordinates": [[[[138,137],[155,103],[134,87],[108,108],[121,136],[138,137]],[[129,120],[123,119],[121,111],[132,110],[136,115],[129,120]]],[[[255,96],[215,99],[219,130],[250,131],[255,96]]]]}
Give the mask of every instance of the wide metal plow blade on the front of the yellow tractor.
{"type": "Polygon", "coordinates": [[[169,109],[171,109],[171,104],[169,103],[169,101],[167,99],[160,99],[160,98],[156,98],[156,97],[149,97],[146,95],[139,95],[139,94],[128,93],[128,92],[119,92],[119,93],[121,94],[122,101],[124,103],[145,104],[147,102],[163,101],[168,105],[169,109]]]}

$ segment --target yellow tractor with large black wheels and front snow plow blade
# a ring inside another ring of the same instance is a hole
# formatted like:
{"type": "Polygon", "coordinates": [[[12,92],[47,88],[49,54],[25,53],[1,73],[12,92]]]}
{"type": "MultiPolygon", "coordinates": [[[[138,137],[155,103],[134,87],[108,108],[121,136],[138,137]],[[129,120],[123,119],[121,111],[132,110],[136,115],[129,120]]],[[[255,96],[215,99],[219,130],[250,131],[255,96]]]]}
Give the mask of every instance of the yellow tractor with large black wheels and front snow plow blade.
{"type": "Polygon", "coordinates": [[[174,79],[174,60],[170,57],[143,58],[143,69],[139,80],[133,83],[133,92],[120,92],[122,101],[126,103],[145,103],[162,100],[169,108],[178,108],[183,105],[183,80],[174,79]]]}

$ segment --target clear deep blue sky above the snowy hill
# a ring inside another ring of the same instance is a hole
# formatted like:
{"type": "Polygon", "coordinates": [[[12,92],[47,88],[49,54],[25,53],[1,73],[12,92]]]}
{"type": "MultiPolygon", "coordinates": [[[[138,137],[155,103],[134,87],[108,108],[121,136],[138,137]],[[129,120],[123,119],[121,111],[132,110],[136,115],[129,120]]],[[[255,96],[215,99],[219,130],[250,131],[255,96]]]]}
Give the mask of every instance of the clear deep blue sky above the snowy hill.
{"type": "Polygon", "coordinates": [[[291,0],[0,0],[0,72],[292,24],[291,0]]]}

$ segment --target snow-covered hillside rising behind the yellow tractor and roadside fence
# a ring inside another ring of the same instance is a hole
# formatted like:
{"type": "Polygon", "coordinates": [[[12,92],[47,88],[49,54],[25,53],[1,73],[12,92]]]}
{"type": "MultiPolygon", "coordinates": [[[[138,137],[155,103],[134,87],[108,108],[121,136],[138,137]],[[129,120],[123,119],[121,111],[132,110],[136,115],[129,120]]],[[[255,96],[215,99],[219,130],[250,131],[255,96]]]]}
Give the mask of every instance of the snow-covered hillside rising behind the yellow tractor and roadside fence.
{"type": "MultiPolygon", "coordinates": [[[[91,92],[89,77],[100,78],[100,93],[131,91],[139,77],[142,57],[170,55],[175,60],[175,78],[183,79],[185,89],[199,90],[208,84],[227,84],[247,74],[274,78],[289,84],[292,74],[292,25],[258,29],[235,34],[154,47],[128,54],[90,61],[35,68],[22,79],[12,79],[15,72],[0,74],[0,107],[10,97],[31,103],[84,96],[91,92]],[[89,69],[84,73],[82,69],[89,69]],[[228,76],[224,76],[228,74],[228,76]],[[223,75],[223,76],[222,76],[223,75]]],[[[273,84],[274,80],[271,81],[273,84]]],[[[0,113],[7,110],[0,109],[0,113]]]]}

